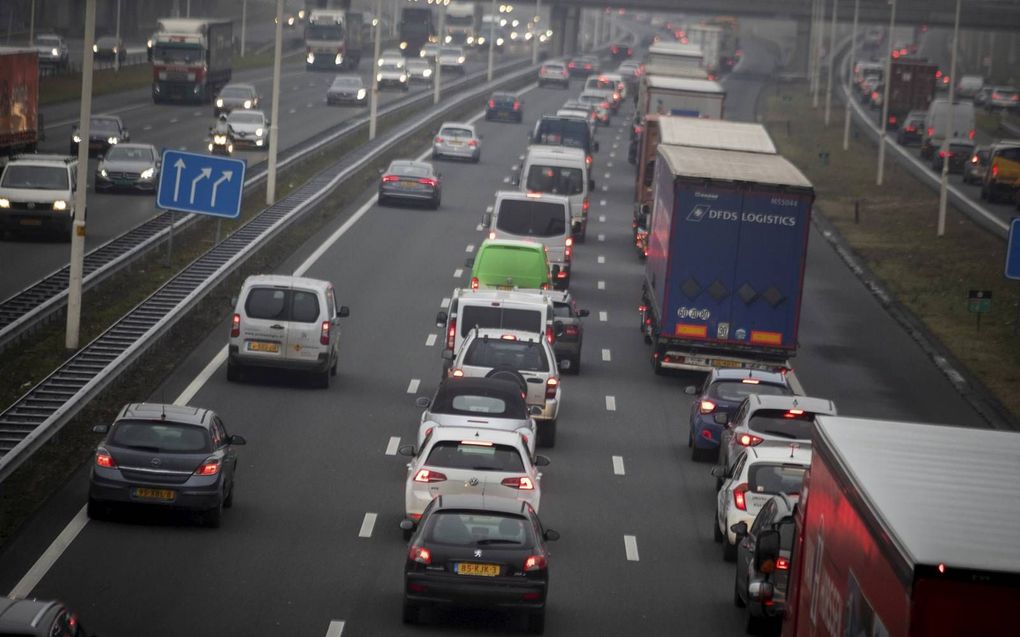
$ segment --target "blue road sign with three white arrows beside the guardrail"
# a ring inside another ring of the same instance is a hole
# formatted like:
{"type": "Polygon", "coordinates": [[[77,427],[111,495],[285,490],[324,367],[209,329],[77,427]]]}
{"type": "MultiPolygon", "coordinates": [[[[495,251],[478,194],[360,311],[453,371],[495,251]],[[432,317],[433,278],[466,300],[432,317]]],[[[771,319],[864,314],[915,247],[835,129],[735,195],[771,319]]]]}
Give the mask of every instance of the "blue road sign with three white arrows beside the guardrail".
{"type": "Polygon", "coordinates": [[[237,219],[245,190],[245,165],[241,159],[163,151],[156,206],[237,219]]]}

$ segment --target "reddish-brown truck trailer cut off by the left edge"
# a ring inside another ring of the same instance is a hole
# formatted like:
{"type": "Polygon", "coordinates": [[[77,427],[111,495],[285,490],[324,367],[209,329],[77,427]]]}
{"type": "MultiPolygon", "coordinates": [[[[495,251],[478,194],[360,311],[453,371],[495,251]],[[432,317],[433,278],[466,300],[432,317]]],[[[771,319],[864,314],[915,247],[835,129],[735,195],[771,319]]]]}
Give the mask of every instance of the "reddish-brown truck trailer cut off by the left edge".
{"type": "Polygon", "coordinates": [[[39,54],[0,47],[0,155],[35,152],[39,123],[39,54]]]}

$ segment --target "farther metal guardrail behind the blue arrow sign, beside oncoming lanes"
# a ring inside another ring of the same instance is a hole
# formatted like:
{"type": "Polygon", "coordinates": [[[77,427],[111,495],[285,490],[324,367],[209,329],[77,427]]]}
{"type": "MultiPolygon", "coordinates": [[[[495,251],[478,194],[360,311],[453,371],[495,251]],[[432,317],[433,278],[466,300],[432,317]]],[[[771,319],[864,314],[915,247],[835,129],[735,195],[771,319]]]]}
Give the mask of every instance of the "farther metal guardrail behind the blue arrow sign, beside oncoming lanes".
{"type": "MultiPolygon", "coordinates": [[[[518,66],[529,64],[529,60],[518,59],[501,64],[496,70],[500,72],[512,70],[518,66]]],[[[475,71],[464,77],[445,85],[447,91],[457,90],[465,84],[481,78],[486,70],[475,71]]],[[[385,116],[401,109],[419,103],[430,103],[432,93],[423,92],[408,96],[379,109],[379,116],[385,116]]],[[[344,137],[354,135],[362,126],[368,124],[368,117],[362,115],[345,120],[333,128],[325,130],[314,139],[300,142],[280,154],[278,168],[285,168],[304,155],[314,152],[324,146],[334,144],[344,137]]],[[[245,181],[248,191],[259,184],[266,176],[266,168],[258,168],[245,181]]],[[[142,253],[160,244],[168,234],[170,223],[178,230],[198,220],[196,215],[181,215],[163,213],[153,217],[123,234],[91,250],[85,257],[83,287],[88,289],[103,279],[115,274],[120,268],[138,258],[142,253]]],[[[63,309],[67,299],[67,280],[69,266],[63,266],[38,282],[0,302],[0,352],[21,334],[40,325],[55,313],[63,309]]]]}

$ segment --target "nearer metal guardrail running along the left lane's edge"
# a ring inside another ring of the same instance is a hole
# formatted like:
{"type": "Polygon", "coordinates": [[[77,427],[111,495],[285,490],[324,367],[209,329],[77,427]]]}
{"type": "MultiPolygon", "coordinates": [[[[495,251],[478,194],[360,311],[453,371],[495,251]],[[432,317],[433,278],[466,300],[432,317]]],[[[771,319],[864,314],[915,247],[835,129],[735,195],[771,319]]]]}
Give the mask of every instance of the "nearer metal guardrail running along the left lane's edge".
{"type": "MultiPolygon", "coordinates": [[[[304,185],[259,213],[140,303],[0,414],[0,481],[78,415],[159,336],[259,248],[327,197],[345,179],[399,146],[426,122],[493,89],[533,73],[530,62],[492,83],[428,108],[386,136],[348,153],[304,185]]],[[[430,99],[430,96],[429,96],[430,99]]]]}

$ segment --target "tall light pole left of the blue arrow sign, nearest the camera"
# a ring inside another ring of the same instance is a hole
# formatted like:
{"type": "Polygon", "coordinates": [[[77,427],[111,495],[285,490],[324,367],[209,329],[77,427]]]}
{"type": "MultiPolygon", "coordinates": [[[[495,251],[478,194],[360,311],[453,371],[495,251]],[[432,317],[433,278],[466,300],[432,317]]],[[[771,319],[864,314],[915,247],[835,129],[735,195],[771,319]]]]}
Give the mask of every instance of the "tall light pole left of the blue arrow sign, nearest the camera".
{"type": "Polygon", "coordinates": [[[64,347],[78,350],[82,328],[82,273],[85,270],[85,206],[89,189],[89,134],[92,124],[92,45],[96,41],[96,0],[85,2],[85,42],[82,54],[82,107],[79,109],[78,182],[74,221],[70,233],[70,271],[67,278],[67,331],[64,347]]]}

